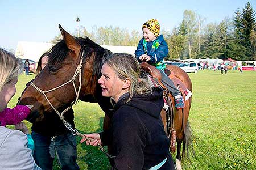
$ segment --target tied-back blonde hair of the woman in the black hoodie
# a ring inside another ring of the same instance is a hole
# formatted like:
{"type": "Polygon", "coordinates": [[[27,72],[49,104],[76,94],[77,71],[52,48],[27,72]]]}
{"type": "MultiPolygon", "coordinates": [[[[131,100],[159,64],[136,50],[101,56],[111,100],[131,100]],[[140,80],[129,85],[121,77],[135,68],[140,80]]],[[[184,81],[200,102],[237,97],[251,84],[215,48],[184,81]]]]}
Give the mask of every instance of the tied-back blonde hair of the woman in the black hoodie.
{"type": "Polygon", "coordinates": [[[124,80],[127,78],[131,81],[129,99],[125,100],[125,103],[130,101],[134,94],[152,94],[151,84],[147,79],[142,78],[139,62],[131,54],[114,53],[104,58],[103,63],[112,67],[119,79],[124,80]]]}

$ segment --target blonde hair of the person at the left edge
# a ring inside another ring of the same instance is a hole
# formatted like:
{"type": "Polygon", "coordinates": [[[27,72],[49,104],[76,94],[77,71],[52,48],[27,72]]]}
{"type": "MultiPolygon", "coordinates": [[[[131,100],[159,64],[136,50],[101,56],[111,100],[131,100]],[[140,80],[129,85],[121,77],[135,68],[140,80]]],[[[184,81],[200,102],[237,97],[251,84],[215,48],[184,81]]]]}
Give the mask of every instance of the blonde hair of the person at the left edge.
{"type": "Polygon", "coordinates": [[[0,48],[0,91],[6,83],[11,82],[22,71],[23,67],[20,59],[0,48]]]}

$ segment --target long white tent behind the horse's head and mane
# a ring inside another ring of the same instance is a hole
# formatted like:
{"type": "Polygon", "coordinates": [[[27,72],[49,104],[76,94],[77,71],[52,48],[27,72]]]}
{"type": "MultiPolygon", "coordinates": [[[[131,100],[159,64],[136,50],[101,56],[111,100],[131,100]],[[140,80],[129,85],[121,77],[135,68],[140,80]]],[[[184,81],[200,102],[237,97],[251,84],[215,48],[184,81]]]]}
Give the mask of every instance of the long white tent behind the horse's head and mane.
{"type": "MultiPolygon", "coordinates": [[[[28,42],[19,41],[16,49],[15,56],[22,59],[32,59],[39,61],[39,58],[44,52],[49,50],[54,44],[49,42],[28,42]]],[[[128,53],[134,56],[134,52],[137,49],[136,46],[113,46],[113,45],[101,45],[103,48],[110,50],[113,53],[128,53]]]]}

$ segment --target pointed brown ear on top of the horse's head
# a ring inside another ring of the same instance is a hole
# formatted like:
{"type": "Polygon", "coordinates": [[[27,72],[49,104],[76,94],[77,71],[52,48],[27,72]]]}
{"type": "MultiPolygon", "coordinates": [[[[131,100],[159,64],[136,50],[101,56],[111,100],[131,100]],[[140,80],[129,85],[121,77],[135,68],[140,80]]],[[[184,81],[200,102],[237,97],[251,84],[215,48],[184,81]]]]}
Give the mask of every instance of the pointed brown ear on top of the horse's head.
{"type": "Polygon", "coordinates": [[[73,53],[76,54],[76,56],[79,56],[81,46],[76,42],[75,38],[70,35],[67,31],[65,31],[61,25],[59,24],[60,32],[63,37],[63,40],[65,41],[65,44],[68,46],[69,50],[72,50],[73,53]]]}

